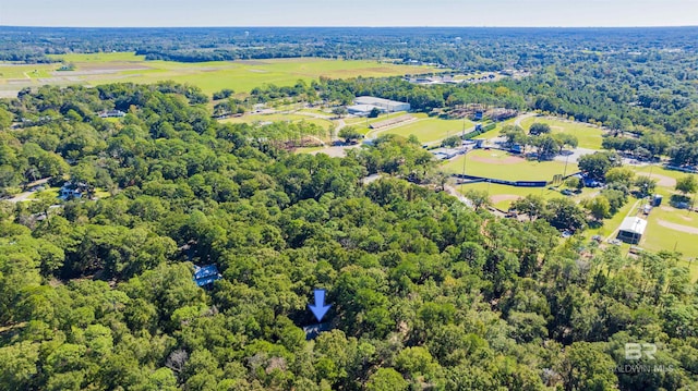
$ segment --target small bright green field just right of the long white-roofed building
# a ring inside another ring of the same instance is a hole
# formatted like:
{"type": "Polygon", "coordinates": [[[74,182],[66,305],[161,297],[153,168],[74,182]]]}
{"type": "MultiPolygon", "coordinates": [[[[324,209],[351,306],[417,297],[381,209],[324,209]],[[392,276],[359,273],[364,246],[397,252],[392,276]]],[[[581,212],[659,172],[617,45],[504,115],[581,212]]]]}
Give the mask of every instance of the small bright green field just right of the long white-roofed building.
{"type": "MultiPolygon", "coordinates": [[[[390,114],[390,117],[393,117],[393,114],[390,114]]],[[[413,134],[421,143],[433,143],[448,136],[462,134],[464,126],[466,130],[473,126],[473,123],[469,120],[442,120],[438,118],[428,118],[425,114],[416,114],[412,117],[418,120],[385,131],[372,131],[369,132],[369,136],[380,133],[392,133],[409,137],[413,134]]]]}

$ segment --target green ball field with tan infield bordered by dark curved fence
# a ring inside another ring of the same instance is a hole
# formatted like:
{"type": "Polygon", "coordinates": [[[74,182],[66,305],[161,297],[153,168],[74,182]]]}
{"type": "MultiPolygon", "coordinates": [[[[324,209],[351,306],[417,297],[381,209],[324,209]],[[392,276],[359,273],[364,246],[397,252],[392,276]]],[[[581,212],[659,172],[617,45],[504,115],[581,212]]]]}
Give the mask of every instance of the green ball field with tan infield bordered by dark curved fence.
{"type": "MultiPolygon", "coordinates": [[[[446,162],[442,168],[448,173],[462,173],[464,156],[446,162]]],[[[565,168],[559,161],[533,161],[512,156],[498,149],[477,149],[468,152],[466,174],[493,178],[505,181],[552,181],[565,168]]],[[[567,164],[567,172],[577,170],[577,164],[567,164]]]]}

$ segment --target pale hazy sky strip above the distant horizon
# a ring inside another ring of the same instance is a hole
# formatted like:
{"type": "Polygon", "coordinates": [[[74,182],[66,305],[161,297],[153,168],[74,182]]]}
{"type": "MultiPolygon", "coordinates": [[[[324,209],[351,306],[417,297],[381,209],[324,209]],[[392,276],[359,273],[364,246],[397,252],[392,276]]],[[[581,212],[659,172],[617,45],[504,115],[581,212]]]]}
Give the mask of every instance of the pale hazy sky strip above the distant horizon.
{"type": "Polygon", "coordinates": [[[13,26],[686,26],[698,0],[0,0],[13,26]]]}

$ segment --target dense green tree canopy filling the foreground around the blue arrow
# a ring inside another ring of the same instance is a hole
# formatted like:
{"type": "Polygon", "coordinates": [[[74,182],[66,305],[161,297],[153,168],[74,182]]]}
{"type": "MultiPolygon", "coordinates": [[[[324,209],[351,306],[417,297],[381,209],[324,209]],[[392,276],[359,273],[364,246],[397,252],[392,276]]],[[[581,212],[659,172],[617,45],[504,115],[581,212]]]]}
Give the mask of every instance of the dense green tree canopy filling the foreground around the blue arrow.
{"type": "Polygon", "coordinates": [[[0,204],[0,389],[698,384],[698,286],[675,254],[580,252],[545,219],[473,211],[405,181],[433,167],[417,140],[292,155],[278,129],[220,124],[196,101],[174,84],[3,101],[64,114],[0,132],[3,180],[29,167],[111,196],[0,204]],[[120,105],[121,121],[94,114],[120,105]],[[192,264],[222,279],[203,290],[192,264]],[[306,341],[316,288],[332,331],[306,341]],[[657,353],[628,358],[627,343],[657,353]]]}

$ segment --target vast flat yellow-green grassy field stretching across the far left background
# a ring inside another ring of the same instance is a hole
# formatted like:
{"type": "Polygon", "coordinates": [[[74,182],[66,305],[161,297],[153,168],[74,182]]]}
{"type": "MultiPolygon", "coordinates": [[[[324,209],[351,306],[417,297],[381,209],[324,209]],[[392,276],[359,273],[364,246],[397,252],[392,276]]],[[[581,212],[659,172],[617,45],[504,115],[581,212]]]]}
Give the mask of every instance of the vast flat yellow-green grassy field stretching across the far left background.
{"type": "Polygon", "coordinates": [[[377,61],[312,58],[201,63],[145,61],[143,56],[122,52],[64,54],[53,56],[53,58],[73,63],[75,70],[58,72],[60,63],[36,65],[0,63],[0,89],[19,90],[26,86],[43,84],[98,85],[116,82],[154,83],[173,80],[196,85],[208,94],[222,88],[249,93],[252,88],[265,84],[293,85],[299,80],[310,82],[320,76],[333,78],[394,76],[432,71],[426,66],[394,65],[377,61]]]}

